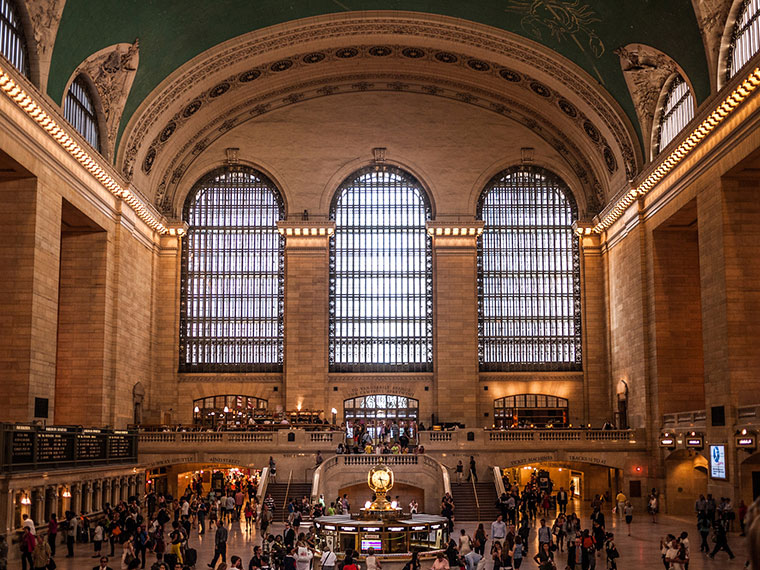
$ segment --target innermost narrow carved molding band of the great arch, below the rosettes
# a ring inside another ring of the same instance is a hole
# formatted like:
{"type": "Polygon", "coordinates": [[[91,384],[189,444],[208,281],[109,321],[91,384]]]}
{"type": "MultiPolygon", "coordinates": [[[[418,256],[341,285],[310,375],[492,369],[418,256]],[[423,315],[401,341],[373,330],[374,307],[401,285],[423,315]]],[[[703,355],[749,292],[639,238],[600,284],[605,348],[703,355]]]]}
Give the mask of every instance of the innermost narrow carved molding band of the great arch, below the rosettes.
{"type": "MultiPolygon", "coordinates": [[[[185,139],[182,146],[172,147],[175,154],[171,161],[161,168],[155,204],[164,212],[180,211],[180,197],[177,191],[189,166],[214,141],[246,121],[311,99],[369,91],[443,97],[512,119],[544,138],[567,161],[585,192],[585,195],[579,197],[585,206],[584,214],[593,215],[605,203],[604,188],[594,168],[586,159],[587,155],[565,134],[563,129],[538,113],[534,107],[482,86],[444,80],[440,77],[411,73],[367,72],[315,78],[256,94],[240,101],[225,112],[216,114],[212,120],[204,121],[203,126],[193,136],[185,139]]],[[[590,123],[589,129],[594,129],[590,123]]],[[[592,133],[598,136],[595,130],[592,130],[592,133]]],[[[587,136],[592,138],[591,135],[587,136]]],[[[592,142],[589,141],[588,144],[592,142]]]]}

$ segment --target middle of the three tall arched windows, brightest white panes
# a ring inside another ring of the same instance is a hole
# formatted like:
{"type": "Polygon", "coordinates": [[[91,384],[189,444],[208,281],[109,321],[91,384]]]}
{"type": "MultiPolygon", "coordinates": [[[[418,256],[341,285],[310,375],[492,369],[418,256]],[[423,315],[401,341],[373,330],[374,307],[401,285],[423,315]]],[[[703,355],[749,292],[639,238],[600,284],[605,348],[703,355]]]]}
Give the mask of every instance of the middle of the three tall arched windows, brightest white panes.
{"type": "Polygon", "coordinates": [[[336,192],[330,370],[432,370],[430,215],[420,183],[397,168],[360,170],[336,192]]]}

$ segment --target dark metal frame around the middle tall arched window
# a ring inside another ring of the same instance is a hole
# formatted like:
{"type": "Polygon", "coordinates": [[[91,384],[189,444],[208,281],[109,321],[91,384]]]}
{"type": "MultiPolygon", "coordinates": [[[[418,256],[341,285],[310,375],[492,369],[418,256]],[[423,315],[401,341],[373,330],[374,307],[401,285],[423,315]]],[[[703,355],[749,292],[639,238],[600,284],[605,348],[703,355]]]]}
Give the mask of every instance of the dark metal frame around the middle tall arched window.
{"type": "MultiPolygon", "coordinates": [[[[338,223],[337,220],[337,210],[340,204],[341,199],[344,197],[346,192],[348,192],[351,188],[354,188],[357,186],[357,182],[362,179],[363,177],[367,175],[371,175],[372,173],[388,173],[390,175],[398,176],[402,179],[402,181],[408,185],[409,188],[414,188],[419,195],[419,198],[421,200],[421,206],[424,209],[424,217],[425,222],[428,222],[432,219],[433,216],[433,208],[432,203],[430,200],[430,197],[427,193],[427,190],[423,186],[423,184],[410,172],[403,170],[402,168],[398,168],[396,166],[392,165],[372,165],[367,166],[364,168],[360,168],[359,170],[354,171],[352,174],[350,174],[348,177],[345,178],[345,180],[340,184],[340,186],[335,191],[335,194],[333,195],[333,199],[330,204],[330,220],[333,220],[336,222],[335,227],[335,235],[330,241],[330,255],[329,255],[329,275],[330,275],[330,285],[329,285],[329,336],[328,336],[328,358],[329,358],[329,370],[330,372],[432,372],[433,371],[433,245],[432,245],[432,237],[428,234],[427,229],[425,225],[423,224],[422,227],[415,227],[415,226],[406,226],[407,228],[410,228],[412,231],[419,230],[420,232],[424,233],[424,240],[425,240],[425,315],[424,318],[422,318],[422,323],[424,326],[424,335],[422,336],[406,336],[402,337],[407,339],[407,342],[412,343],[409,346],[413,348],[414,343],[425,343],[424,351],[426,355],[425,362],[417,361],[417,362],[406,362],[406,363],[380,363],[380,362],[339,362],[336,355],[338,354],[338,351],[341,349],[341,345],[349,346],[349,339],[353,339],[353,343],[355,345],[365,344],[376,342],[373,341],[373,338],[383,338],[383,339],[398,339],[399,337],[372,337],[368,335],[362,335],[357,334],[352,337],[337,337],[337,327],[338,327],[338,319],[337,316],[337,304],[339,300],[339,295],[337,293],[337,286],[338,286],[338,275],[337,275],[337,264],[338,264],[338,249],[337,249],[337,243],[338,239],[341,235],[342,226],[338,223]]],[[[387,205],[386,205],[387,206],[387,205]]],[[[402,205],[399,206],[402,208],[409,208],[409,205],[402,205]]],[[[378,226],[367,226],[370,228],[378,227],[378,226]]],[[[356,234],[358,234],[357,230],[354,230],[356,234]]],[[[416,270],[419,270],[418,268],[416,270]]],[[[353,276],[356,277],[359,280],[366,279],[365,277],[366,271],[361,271],[360,269],[356,269],[353,276]]],[[[397,277],[396,283],[402,282],[401,280],[405,279],[404,277],[397,277]]],[[[409,302],[407,302],[404,307],[409,308],[409,302]]],[[[367,322],[368,317],[358,317],[354,322],[367,322]]],[[[403,320],[407,323],[407,330],[410,323],[410,316],[405,315],[403,319],[397,319],[397,320],[403,320]]],[[[403,341],[396,341],[395,345],[400,346],[403,341]]],[[[389,342],[389,345],[394,345],[394,342],[389,342]]],[[[423,350],[423,349],[421,349],[423,350]]],[[[358,359],[357,359],[358,360],[358,359]]]]}

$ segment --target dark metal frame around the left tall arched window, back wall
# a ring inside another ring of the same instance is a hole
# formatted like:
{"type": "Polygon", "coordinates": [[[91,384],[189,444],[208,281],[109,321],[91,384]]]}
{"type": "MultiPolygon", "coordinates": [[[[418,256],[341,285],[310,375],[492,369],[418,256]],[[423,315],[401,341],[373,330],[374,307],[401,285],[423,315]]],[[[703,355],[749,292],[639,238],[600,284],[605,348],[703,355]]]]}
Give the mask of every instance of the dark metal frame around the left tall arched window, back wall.
{"type": "MultiPolygon", "coordinates": [[[[195,204],[195,201],[199,194],[205,190],[208,190],[210,188],[210,185],[213,184],[214,181],[219,180],[219,178],[225,174],[232,174],[232,173],[243,173],[245,175],[254,176],[258,178],[259,185],[254,186],[254,188],[260,188],[260,187],[267,187],[274,199],[274,205],[277,207],[278,211],[278,218],[276,221],[283,220],[285,218],[285,203],[282,198],[282,194],[278,188],[278,186],[263,172],[260,170],[245,166],[245,165],[226,165],[221,166],[219,168],[216,168],[204,176],[202,176],[198,181],[193,185],[192,189],[188,193],[187,197],[185,198],[185,203],[183,206],[183,214],[182,219],[186,222],[190,219],[190,209],[195,204]]],[[[243,188],[243,186],[236,186],[233,187],[237,190],[240,190],[243,188]]],[[[248,188],[251,188],[250,186],[248,188]]],[[[276,362],[238,362],[238,363],[225,363],[225,362],[205,362],[205,363],[193,363],[188,362],[188,359],[186,358],[187,350],[188,350],[188,343],[191,340],[191,336],[188,335],[187,329],[188,329],[188,322],[190,321],[190,314],[189,314],[189,308],[188,308],[188,300],[189,300],[189,290],[188,290],[188,284],[189,284],[189,259],[190,259],[190,237],[191,232],[193,231],[193,226],[188,227],[187,235],[184,236],[182,239],[182,254],[181,254],[181,278],[180,278],[180,307],[179,307],[179,313],[180,313],[180,329],[179,329],[179,367],[178,371],[180,373],[188,373],[188,372],[194,372],[194,373],[206,373],[206,372],[242,372],[242,373],[249,373],[249,372],[276,372],[280,373],[283,370],[283,362],[284,362],[284,352],[285,352],[285,335],[284,335],[284,304],[285,304],[285,237],[282,236],[275,225],[270,228],[270,231],[273,231],[274,235],[277,239],[277,337],[275,339],[276,342],[276,362]]],[[[266,226],[209,226],[209,227],[216,227],[216,228],[222,228],[222,229],[245,229],[245,228],[256,228],[256,227],[266,227],[266,226]]],[[[218,250],[217,250],[218,251],[218,250]]],[[[270,251],[270,250],[265,250],[270,251]]],[[[272,250],[274,251],[274,250],[272,250]]],[[[218,254],[217,254],[218,255],[218,254]]],[[[220,273],[220,275],[229,275],[229,272],[220,273]]],[[[258,273],[257,275],[264,275],[262,273],[258,273]]],[[[270,292],[271,293],[271,292],[270,292]]],[[[208,297],[207,297],[208,298],[208,297]]],[[[227,297],[229,302],[229,295],[227,297]]],[[[219,337],[223,338],[223,337],[219,337]]],[[[255,342],[256,339],[261,337],[251,336],[251,337],[245,337],[244,342],[248,341],[249,343],[255,342]]]]}

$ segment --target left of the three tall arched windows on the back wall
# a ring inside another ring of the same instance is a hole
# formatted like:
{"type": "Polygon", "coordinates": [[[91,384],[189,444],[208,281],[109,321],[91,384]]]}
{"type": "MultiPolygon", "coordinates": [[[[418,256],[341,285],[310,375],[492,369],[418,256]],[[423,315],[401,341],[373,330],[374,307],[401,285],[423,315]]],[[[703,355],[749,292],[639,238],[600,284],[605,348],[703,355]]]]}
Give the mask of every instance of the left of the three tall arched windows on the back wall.
{"type": "Polygon", "coordinates": [[[247,167],[202,178],[183,219],[180,371],[282,370],[283,203],[247,167]]]}

